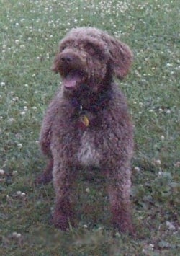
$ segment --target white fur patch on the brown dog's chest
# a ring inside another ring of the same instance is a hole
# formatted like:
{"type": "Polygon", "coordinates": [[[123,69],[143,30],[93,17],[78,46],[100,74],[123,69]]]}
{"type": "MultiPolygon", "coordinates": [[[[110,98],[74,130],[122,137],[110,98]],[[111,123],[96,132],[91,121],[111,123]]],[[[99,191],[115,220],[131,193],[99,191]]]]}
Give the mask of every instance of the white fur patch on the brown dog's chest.
{"type": "Polygon", "coordinates": [[[78,162],[85,167],[99,167],[99,150],[93,134],[85,131],[78,149],[78,162]]]}

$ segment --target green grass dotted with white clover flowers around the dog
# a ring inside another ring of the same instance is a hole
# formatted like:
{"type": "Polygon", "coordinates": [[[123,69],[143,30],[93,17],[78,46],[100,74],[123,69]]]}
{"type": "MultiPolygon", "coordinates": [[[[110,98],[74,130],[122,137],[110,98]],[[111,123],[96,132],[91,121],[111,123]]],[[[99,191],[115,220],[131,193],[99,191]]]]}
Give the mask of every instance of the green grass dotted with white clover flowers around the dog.
{"type": "Polygon", "coordinates": [[[0,255],[179,255],[179,1],[1,0],[0,255]],[[132,48],[119,82],[135,123],[132,206],[137,238],[113,231],[104,180],[77,182],[78,227],[50,225],[53,185],[36,187],[45,167],[37,140],[59,77],[58,41],[91,25],[132,48]]]}

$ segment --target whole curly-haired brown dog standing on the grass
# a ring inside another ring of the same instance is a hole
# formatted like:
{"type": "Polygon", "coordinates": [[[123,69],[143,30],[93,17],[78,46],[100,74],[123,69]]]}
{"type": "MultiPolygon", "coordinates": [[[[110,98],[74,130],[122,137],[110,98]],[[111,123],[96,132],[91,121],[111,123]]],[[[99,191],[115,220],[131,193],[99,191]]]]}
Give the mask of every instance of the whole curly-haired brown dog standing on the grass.
{"type": "Polygon", "coordinates": [[[71,194],[80,168],[98,167],[107,177],[112,224],[133,234],[130,159],[133,129],[127,103],[113,76],[122,79],[132,63],[130,48],[93,27],[73,29],[63,40],[53,71],[62,86],[50,103],[40,132],[49,162],[37,182],[53,177],[53,224],[73,225],[71,194]]]}

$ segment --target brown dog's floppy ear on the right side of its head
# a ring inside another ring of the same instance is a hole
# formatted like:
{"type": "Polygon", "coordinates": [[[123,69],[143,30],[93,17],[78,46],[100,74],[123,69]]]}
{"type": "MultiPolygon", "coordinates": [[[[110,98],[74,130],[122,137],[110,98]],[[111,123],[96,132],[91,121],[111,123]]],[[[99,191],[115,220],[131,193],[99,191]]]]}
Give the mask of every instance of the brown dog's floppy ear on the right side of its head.
{"type": "Polygon", "coordinates": [[[109,37],[108,46],[112,70],[117,78],[123,79],[130,70],[132,51],[125,43],[114,37],[109,37]]]}

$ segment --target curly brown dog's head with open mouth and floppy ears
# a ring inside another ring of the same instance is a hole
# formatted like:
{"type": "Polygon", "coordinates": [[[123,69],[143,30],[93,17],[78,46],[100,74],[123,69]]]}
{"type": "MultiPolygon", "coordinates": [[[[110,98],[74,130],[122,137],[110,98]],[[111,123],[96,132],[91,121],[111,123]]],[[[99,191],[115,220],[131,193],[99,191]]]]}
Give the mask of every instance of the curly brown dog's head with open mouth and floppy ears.
{"type": "Polygon", "coordinates": [[[82,84],[97,87],[112,74],[122,79],[131,63],[132,52],[120,40],[93,27],[80,27],[60,41],[53,71],[60,73],[66,89],[76,90],[82,84]]]}

